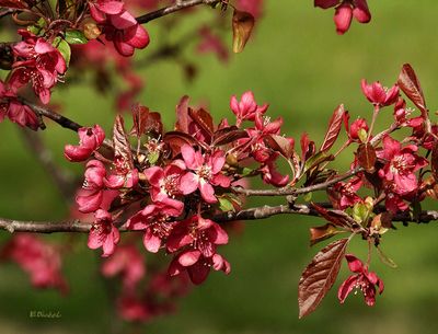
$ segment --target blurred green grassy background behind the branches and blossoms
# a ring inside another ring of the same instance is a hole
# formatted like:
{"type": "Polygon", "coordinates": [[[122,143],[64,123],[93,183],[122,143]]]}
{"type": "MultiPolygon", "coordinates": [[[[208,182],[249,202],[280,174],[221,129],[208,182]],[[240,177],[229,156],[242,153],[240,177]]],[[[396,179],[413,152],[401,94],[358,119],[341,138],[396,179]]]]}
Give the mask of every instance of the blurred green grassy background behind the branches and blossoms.
{"type": "MultiPolygon", "coordinates": [[[[229,99],[246,90],[258,103],[268,102],[273,117],[285,118],[284,133],[298,136],[308,131],[320,141],[327,119],[337,104],[344,103],[351,117],[369,117],[370,107],[360,91],[362,78],[395,82],[400,68],[411,62],[417,71],[429,107],[438,105],[438,41],[435,0],[369,0],[372,22],[354,22],[350,31],[337,36],[333,11],[314,9],[313,1],[266,0],[263,21],[245,51],[232,56],[223,66],[214,56],[187,56],[199,67],[192,83],[180,67],[158,62],[141,70],[146,90],[140,102],[164,115],[168,126],[174,120],[174,106],[188,94],[195,103],[208,101],[219,119],[230,116],[229,99]]],[[[207,21],[209,10],[191,15],[184,28],[196,20],[207,21]]],[[[152,53],[160,45],[160,30],[148,25],[152,43],[140,54],[152,53]]],[[[182,33],[183,34],[183,33],[182,33]]],[[[227,36],[230,41],[230,34],[227,36]]],[[[175,41],[177,36],[175,37],[175,41]]],[[[230,42],[231,43],[231,42],[230,42]]],[[[70,87],[54,94],[65,101],[65,113],[81,124],[102,124],[111,128],[113,97],[102,96],[89,87],[70,87]]],[[[391,118],[390,110],[381,120],[391,118]]],[[[382,124],[382,123],[381,123],[382,124]]],[[[0,131],[0,217],[15,219],[61,219],[68,211],[60,194],[44,169],[23,143],[20,129],[3,122],[0,131]]],[[[54,158],[72,173],[82,168],[62,158],[65,142],[77,136],[49,125],[42,134],[54,158]]],[[[351,157],[338,162],[347,166],[351,157]]],[[[264,199],[251,204],[263,204],[264,199]]],[[[385,291],[374,308],[365,306],[361,296],[351,296],[339,306],[335,289],[309,318],[298,320],[297,285],[300,273],[318,252],[310,249],[308,228],[321,223],[314,218],[277,217],[246,224],[245,232],[230,240],[222,253],[232,265],[227,277],[215,273],[203,286],[180,302],[180,311],[154,322],[131,326],[118,323],[105,285],[96,269],[99,253],[85,246],[85,235],[78,250],[65,260],[65,274],[71,292],[60,297],[55,291],[36,291],[15,265],[0,265],[1,333],[436,333],[438,327],[438,261],[436,223],[400,227],[384,235],[382,249],[397,264],[391,269],[373,261],[385,283],[385,291]],[[31,319],[31,310],[56,310],[58,320],[31,319]]],[[[0,233],[0,240],[8,239],[0,233]]],[[[66,235],[46,240],[66,242],[66,235]]],[[[365,244],[353,243],[358,255],[365,244]]],[[[346,277],[344,267],[342,276],[346,277]]]]}

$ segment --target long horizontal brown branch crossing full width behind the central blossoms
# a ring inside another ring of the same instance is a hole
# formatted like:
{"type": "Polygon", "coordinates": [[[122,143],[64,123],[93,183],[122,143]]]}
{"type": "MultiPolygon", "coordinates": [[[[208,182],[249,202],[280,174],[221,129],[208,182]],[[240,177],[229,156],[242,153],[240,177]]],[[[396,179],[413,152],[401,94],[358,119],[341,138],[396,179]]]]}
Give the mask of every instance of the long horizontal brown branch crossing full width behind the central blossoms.
{"type": "MultiPolygon", "coordinates": [[[[323,204],[325,205],[325,204],[323,204]]],[[[326,205],[325,205],[326,206],[326,205]]],[[[381,211],[382,208],[377,208],[377,211],[381,211]]],[[[277,215],[300,215],[300,216],[313,216],[316,217],[319,214],[310,205],[279,205],[279,206],[263,206],[257,208],[251,208],[241,211],[229,211],[215,215],[212,220],[217,222],[228,222],[235,220],[258,220],[266,219],[277,215]]],[[[430,221],[438,220],[438,211],[435,210],[423,210],[418,219],[412,218],[410,212],[400,212],[393,217],[393,222],[422,222],[427,223],[430,221]]],[[[292,220],[289,220],[292,222],[292,220]]],[[[55,233],[55,232],[82,232],[87,233],[90,231],[92,224],[80,222],[79,220],[73,221],[19,221],[0,218],[0,230],[7,230],[13,232],[33,232],[33,233],[55,233]]],[[[125,226],[119,228],[120,232],[127,232],[125,226]]],[[[132,231],[136,232],[136,231],[132,231]]]]}

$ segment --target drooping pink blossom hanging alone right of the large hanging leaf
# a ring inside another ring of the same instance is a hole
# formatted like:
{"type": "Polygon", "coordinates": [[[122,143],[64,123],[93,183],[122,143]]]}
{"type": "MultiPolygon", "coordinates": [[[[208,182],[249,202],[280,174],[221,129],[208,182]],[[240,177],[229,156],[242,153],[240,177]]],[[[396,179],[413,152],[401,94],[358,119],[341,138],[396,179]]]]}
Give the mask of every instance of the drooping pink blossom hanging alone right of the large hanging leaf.
{"type": "Polygon", "coordinates": [[[373,272],[368,272],[368,267],[351,254],[346,254],[349,269],[355,275],[349,276],[339,287],[337,298],[344,303],[347,296],[354,290],[359,289],[365,297],[365,302],[372,307],[376,302],[376,286],[379,288],[379,295],[383,292],[383,281],[373,272]]]}

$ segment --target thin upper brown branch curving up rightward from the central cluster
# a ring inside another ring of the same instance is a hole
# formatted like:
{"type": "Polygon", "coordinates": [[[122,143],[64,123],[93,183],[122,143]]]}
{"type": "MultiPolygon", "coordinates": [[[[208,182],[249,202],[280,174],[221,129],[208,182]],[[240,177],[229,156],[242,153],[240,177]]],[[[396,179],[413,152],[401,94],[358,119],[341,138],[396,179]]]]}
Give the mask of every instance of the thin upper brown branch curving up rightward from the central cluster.
{"type": "Polygon", "coordinates": [[[324,191],[327,187],[330,187],[341,181],[344,181],[348,177],[351,177],[362,171],[364,171],[362,168],[356,168],[356,169],[350,170],[347,173],[339,175],[335,178],[331,178],[323,183],[318,183],[318,184],[298,188],[298,189],[286,186],[286,187],[278,188],[278,189],[245,189],[242,187],[233,187],[232,191],[234,193],[242,194],[245,196],[288,196],[288,195],[297,196],[297,195],[303,195],[303,194],[308,194],[308,193],[312,193],[312,192],[316,192],[316,191],[324,191]]]}

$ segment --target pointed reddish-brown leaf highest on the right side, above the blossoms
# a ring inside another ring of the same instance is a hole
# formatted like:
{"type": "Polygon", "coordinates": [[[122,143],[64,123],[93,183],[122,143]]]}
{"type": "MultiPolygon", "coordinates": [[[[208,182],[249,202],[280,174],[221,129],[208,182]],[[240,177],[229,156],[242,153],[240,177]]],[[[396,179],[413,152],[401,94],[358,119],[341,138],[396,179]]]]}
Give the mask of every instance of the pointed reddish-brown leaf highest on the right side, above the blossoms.
{"type": "Polygon", "coordinates": [[[424,99],[422,87],[414,69],[411,65],[403,65],[400,72],[397,84],[406,96],[422,111],[423,114],[427,113],[426,102],[424,99]]]}

